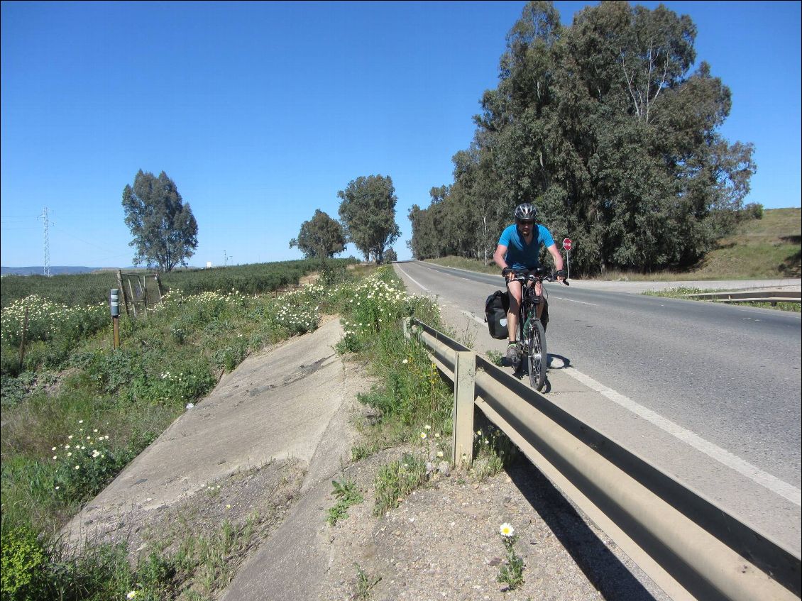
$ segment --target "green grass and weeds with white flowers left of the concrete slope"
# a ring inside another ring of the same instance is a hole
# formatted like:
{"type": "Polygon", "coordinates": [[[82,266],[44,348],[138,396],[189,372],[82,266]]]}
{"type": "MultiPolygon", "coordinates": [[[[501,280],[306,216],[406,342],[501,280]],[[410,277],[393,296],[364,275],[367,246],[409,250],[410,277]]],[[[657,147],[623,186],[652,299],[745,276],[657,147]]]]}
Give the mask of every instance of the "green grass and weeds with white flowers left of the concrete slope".
{"type": "Polygon", "coordinates": [[[315,329],[323,312],[337,313],[354,284],[331,280],[357,270],[339,271],[323,273],[328,287],[280,297],[236,289],[172,293],[147,318],[121,318],[119,349],[112,349],[107,308],[99,321],[95,309],[51,307],[36,297],[3,309],[2,598],[24,599],[25,587],[43,587],[30,598],[123,599],[134,583],[152,581],[139,598],[166,599],[174,595],[164,587],[192,579],[200,584],[184,598],[207,599],[227,582],[225,566],[247,544],[247,523],[223,522],[213,536],[185,538],[178,559],[154,556],[134,565],[125,550],[102,544],[70,558],[58,533],[223,373],[249,353],[315,329]],[[62,327],[65,314],[71,327],[62,327]],[[28,560],[42,557],[42,578],[26,584],[28,560]]]}

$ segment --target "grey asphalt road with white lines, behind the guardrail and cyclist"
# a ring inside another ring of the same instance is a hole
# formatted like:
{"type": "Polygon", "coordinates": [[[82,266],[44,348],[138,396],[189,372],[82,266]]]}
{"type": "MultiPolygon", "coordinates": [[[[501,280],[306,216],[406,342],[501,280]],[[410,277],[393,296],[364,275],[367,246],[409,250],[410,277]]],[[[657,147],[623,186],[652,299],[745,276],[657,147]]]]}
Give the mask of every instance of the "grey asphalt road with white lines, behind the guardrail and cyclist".
{"type": "MultiPolygon", "coordinates": [[[[504,349],[479,323],[500,276],[396,268],[504,349]]],[[[547,287],[547,396],[799,554],[800,314],[571,284],[547,287]]]]}

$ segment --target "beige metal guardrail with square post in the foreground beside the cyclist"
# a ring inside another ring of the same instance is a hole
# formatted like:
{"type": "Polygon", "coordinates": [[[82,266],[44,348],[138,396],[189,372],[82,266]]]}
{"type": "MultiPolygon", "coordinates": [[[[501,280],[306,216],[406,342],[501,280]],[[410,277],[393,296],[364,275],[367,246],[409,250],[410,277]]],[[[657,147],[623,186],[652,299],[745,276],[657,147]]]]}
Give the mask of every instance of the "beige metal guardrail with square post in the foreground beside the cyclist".
{"type": "Polygon", "coordinates": [[[800,599],[792,551],[459,342],[415,319],[407,333],[454,382],[458,466],[478,407],[672,599],[800,599]]]}

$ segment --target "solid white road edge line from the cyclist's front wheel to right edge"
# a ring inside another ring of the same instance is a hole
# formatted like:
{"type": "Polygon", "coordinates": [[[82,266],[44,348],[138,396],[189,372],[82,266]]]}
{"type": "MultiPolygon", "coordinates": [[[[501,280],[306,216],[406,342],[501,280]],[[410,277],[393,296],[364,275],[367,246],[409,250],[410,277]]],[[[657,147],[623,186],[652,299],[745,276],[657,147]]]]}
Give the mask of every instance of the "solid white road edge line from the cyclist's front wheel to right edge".
{"type": "MultiPolygon", "coordinates": [[[[555,365],[555,367],[557,367],[557,365],[555,365]]],[[[719,463],[723,463],[723,465],[749,478],[752,482],[756,482],[760,486],[771,490],[773,493],[779,494],[780,497],[788,499],[788,501],[794,503],[796,506],[802,506],[802,490],[796,488],[796,486],[788,484],[788,482],[784,482],[780,480],[780,478],[776,478],[772,476],[772,474],[760,470],[759,467],[751,465],[751,463],[736,457],[728,450],[724,450],[720,446],[714,445],[712,442],[708,442],[698,434],[694,434],[690,430],[678,426],[669,419],[666,419],[666,417],[662,417],[662,415],[655,413],[651,409],[639,405],[632,399],[593,380],[592,377],[577,371],[577,369],[573,367],[566,368],[565,373],[575,380],[580,381],[588,388],[602,394],[602,396],[609,398],[610,401],[621,405],[624,409],[629,409],[632,413],[642,417],[647,422],[654,424],[654,426],[657,426],[675,438],[687,443],[696,450],[701,451],[708,457],[715,459],[719,463]]]]}

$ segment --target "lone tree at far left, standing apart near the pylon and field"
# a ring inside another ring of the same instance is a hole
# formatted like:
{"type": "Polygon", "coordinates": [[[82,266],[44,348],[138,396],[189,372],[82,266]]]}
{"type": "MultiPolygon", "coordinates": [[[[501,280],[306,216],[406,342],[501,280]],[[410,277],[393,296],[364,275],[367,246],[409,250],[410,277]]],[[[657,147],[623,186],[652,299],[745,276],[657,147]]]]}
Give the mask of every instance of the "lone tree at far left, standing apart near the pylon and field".
{"type": "Polygon", "coordinates": [[[137,172],[134,185],[123,190],[125,224],[134,239],[134,264],[170,272],[195,254],[198,245],[198,224],[189,204],[184,204],[175,182],[164,171],[137,172]]]}

